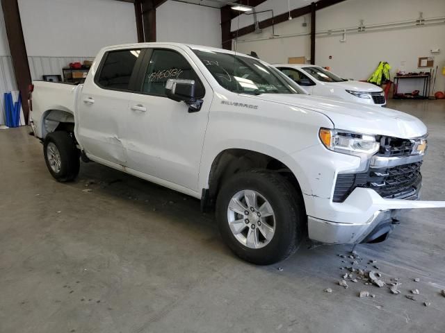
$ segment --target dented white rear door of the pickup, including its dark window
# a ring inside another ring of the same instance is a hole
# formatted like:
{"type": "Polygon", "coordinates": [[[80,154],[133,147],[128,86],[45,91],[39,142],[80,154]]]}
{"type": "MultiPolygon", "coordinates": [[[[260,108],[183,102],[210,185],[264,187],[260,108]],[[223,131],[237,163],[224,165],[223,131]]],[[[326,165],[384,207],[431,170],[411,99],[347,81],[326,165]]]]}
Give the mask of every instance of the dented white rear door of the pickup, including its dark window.
{"type": "Polygon", "coordinates": [[[127,163],[125,118],[142,58],[140,49],[108,51],[95,75],[89,75],[83,85],[76,135],[87,155],[105,164],[124,167],[127,163]]]}

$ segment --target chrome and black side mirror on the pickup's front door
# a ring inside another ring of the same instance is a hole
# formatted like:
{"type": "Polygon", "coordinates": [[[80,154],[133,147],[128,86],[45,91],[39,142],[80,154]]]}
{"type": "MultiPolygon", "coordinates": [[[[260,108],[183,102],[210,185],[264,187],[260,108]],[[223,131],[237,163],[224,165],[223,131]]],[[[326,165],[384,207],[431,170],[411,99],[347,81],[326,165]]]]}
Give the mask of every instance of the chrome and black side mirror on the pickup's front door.
{"type": "Polygon", "coordinates": [[[185,102],[188,112],[201,110],[202,99],[195,99],[195,80],[169,78],[165,83],[165,94],[173,101],[185,102]]]}

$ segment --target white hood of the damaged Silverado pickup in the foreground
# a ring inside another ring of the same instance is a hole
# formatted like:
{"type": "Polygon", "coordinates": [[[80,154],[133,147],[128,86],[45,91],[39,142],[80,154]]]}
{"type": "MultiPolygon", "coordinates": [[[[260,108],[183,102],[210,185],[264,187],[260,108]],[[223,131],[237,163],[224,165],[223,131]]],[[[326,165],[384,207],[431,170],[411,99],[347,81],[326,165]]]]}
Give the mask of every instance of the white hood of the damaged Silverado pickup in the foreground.
{"type": "Polygon", "coordinates": [[[249,97],[325,114],[339,130],[402,139],[421,137],[427,133],[426,126],[416,117],[380,106],[304,94],[261,94],[249,97]]]}

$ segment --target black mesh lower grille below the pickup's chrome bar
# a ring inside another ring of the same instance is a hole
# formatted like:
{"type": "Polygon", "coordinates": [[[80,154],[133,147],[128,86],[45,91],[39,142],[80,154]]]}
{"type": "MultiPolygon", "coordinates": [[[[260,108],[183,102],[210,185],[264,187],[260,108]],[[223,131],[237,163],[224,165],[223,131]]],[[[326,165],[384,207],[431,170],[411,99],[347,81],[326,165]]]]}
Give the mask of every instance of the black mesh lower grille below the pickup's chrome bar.
{"type": "Polygon", "coordinates": [[[369,169],[364,173],[341,173],[337,176],[334,203],[342,203],[356,187],[375,190],[382,198],[407,198],[419,192],[422,162],[387,169],[369,169]]]}

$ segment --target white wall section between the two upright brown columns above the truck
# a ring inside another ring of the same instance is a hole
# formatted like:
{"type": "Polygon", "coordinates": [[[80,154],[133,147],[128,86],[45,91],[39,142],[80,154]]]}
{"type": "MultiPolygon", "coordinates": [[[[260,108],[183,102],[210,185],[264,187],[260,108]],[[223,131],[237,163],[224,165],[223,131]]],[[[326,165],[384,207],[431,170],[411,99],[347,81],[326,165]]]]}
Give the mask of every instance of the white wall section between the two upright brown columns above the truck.
{"type": "Polygon", "coordinates": [[[219,8],[167,1],[156,8],[156,41],[221,47],[219,8]]]}

